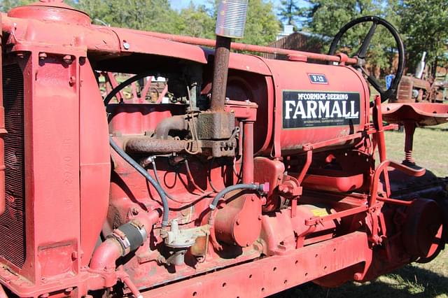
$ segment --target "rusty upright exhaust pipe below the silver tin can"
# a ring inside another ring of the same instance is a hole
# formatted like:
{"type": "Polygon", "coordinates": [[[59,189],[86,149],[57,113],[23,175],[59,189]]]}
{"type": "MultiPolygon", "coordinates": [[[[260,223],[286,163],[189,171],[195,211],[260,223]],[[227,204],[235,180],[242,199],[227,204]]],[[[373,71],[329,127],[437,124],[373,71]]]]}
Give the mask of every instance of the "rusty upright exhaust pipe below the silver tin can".
{"type": "Polygon", "coordinates": [[[229,72],[231,38],[216,36],[216,50],[211,90],[211,111],[224,111],[225,90],[229,72]]]}

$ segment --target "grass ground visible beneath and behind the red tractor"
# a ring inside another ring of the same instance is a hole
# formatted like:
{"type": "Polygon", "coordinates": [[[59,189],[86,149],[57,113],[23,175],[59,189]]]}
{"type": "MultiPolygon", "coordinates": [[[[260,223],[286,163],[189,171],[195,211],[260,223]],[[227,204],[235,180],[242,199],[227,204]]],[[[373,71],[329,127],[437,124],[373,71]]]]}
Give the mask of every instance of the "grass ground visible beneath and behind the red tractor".
{"type": "MultiPolygon", "coordinates": [[[[448,125],[416,129],[414,159],[437,176],[448,176],[448,125]]],[[[388,159],[401,162],[405,134],[386,132],[388,159]]],[[[369,283],[346,283],[326,289],[313,283],[290,289],[276,297],[448,297],[448,247],[433,262],[409,264],[369,283]]]]}

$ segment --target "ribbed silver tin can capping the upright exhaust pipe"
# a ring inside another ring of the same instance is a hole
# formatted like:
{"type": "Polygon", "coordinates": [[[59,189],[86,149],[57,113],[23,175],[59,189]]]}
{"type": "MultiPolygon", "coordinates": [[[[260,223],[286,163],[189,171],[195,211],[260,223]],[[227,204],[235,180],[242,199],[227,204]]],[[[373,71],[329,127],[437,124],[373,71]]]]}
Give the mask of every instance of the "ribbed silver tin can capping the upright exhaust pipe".
{"type": "Polygon", "coordinates": [[[216,35],[242,38],[246,26],[248,0],[221,0],[216,20],[216,35]]]}

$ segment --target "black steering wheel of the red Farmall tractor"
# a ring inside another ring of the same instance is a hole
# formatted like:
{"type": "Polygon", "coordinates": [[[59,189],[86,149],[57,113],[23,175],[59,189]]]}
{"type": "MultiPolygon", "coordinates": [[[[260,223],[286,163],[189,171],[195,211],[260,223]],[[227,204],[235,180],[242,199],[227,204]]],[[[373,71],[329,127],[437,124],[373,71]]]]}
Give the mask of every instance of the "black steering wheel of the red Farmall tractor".
{"type": "MultiPolygon", "coordinates": [[[[356,64],[356,68],[360,69],[365,76],[367,76],[367,81],[374,87],[375,90],[379,92],[381,95],[381,102],[389,99],[397,90],[398,84],[400,83],[401,77],[403,75],[403,71],[405,69],[405,46],[403,45],[403,41],[400,38],[400,34],[398,34],[397,29],[392,26],[391,23],[387,22],[381,17],[367,16],[367,17],[359,17],[356,20],[352,20],[348,22],[342,27],[339,32],[337,32],[335,38],[333,39],[330,50],[328,51],[329,55],[335,55],[337,44],[341,40],[341,37],[348,31],[351,27],[354,27],[356,24],[364,23],[364,22],[372,22],[372,27],[370,27],[369,32],[365,36],[363,43],[361,44],[358,51],[355,53],[354,57],[358,58],[358,64],[356,64]],[[398,68],[395,73],[395,78],[392,81],[391,87],[388,90],[384,90],[378,81],[372,75],[368,75],[367,71],[363,68],[365,66],[365,56],[367,55],[367,50],[370,45],[370,41],[372,41],[372,36],[375,33],[378,25],[382,25],[386,27],[386,29],[392,34],[395,39],[395,43],[398,48],[398,68]]],[[[373,106],[373,103],[370,103],[370,107],[373,106]]]]}

